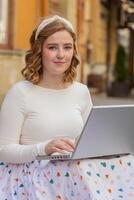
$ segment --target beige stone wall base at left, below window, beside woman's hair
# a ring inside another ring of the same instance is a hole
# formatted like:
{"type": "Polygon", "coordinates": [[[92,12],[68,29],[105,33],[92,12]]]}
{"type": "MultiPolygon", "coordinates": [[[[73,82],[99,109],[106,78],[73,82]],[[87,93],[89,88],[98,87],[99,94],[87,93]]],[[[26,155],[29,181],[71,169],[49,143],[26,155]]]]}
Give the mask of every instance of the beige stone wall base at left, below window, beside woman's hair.
{"type": "Polygon", "coordinates": [[[22,79],[20,71],[23,66],[23,51],[0,51],[0,103],[7,90],[22,79]]]}

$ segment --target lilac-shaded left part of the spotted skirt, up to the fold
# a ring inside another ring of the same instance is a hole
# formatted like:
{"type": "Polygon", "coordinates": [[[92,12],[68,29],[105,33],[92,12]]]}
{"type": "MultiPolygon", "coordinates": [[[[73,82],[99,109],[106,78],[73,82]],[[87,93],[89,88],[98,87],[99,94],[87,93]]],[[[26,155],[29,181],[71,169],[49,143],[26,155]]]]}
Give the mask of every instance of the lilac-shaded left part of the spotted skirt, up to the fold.
{"type": "Polygon", "coordinates": [[[80,161],[0,162],[0,200],[89,200],[80,161]]]}

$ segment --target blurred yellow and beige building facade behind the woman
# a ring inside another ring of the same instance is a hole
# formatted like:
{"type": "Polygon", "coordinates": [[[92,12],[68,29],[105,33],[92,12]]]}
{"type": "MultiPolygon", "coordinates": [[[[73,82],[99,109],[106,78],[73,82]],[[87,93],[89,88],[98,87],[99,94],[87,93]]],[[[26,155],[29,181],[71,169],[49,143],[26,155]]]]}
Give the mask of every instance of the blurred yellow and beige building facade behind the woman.
{"type": "Polygon", "coordinates": [[[53,14],[69,19],[77,32],[81,58],[78,80],[87,84],[90,73],[98,74],[103,82],[109,73],[107,62],[114,63],[117,48],[115,1],[109,10],[101,0],[0,0],[0,98],[22,79],[20,70],[33,28],[41,17],[53,14]]]}

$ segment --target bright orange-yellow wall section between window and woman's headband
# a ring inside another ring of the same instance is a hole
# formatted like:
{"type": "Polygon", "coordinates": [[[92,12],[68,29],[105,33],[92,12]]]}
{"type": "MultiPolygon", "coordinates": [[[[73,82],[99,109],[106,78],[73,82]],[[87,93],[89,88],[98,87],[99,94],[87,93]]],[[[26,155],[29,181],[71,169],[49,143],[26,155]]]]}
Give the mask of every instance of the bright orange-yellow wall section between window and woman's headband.
{"type": "Polygon", "coordinates": [[[47,14],[47,0],[15,1],[15,49],[27,49],[29,38],[41,16],[47,14]]]}

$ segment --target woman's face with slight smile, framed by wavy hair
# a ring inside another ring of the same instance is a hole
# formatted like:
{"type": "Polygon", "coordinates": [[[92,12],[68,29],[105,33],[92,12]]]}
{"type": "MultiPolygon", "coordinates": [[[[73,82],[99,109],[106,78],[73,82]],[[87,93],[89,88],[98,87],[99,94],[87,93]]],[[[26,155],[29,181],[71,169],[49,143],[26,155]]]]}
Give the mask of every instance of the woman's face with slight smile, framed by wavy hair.
{"type": "Polygon", "coordinates": [[[74,53],[74,42],[69,32],[58,31],[43,44],[42,63],[45,75],[63,76],[70,67],[74,53]]]}

